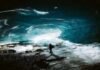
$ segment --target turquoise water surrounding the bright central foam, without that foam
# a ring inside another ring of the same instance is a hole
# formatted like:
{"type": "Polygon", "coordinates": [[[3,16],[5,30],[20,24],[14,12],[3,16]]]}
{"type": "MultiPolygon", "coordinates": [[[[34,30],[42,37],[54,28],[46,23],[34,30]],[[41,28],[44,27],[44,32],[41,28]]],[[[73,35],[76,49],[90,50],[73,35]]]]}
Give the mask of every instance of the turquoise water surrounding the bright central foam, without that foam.
{"type": "Polygon", "coordinates": [[[64,40],[76,43],[92,43],[98,41],[96,38],[98,30],[95,28],[92,20],[54,16],[37,15],[32,12],[24,12],[24,14],[18,12],[12,17],[9,16],[7,19],[8,25],[5,25],[1,21],[0,40],[30,40],[36,35],[60,30],[61,35],[59,37],[64,40]]]}

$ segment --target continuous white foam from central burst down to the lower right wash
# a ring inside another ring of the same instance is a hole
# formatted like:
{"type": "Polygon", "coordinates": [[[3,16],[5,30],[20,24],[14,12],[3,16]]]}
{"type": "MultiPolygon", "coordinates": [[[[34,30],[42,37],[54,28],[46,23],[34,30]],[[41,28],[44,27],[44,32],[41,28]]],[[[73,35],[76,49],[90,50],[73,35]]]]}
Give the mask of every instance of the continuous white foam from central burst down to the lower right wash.
{"type": "Polygon", "coordinates": [[[70,58],[69,60],[78,60],[82,59],[82,62],[85,63],[99,63],[100,62],[100,44],[92,43],[92,44],[79,44],[73,43],[69,40],[63,40],[60,38],[61,31],[53,30],[44,34],[37,35],[32,38],[34,43],[44,45],[44,44],[54,44],[59,45],[54,50],[54,53],[61,56],[66,56],[70,58]],[[68,53],[70,55],[68,55],[68,53]],[[73,56],[73,57],[72,57],[73,56]]]}

